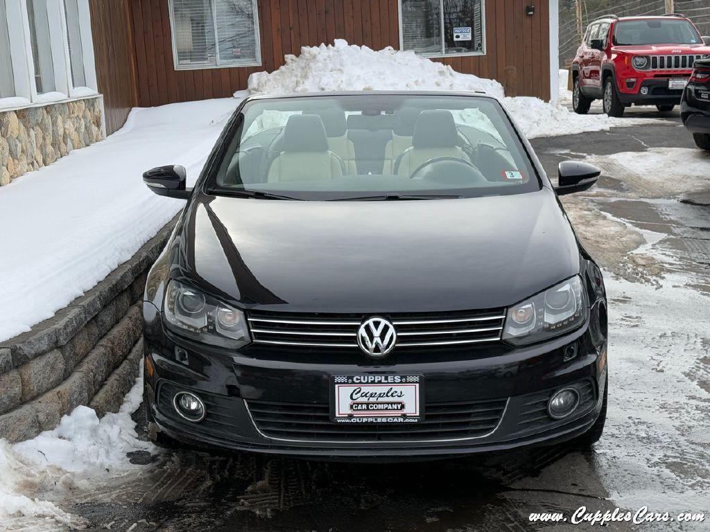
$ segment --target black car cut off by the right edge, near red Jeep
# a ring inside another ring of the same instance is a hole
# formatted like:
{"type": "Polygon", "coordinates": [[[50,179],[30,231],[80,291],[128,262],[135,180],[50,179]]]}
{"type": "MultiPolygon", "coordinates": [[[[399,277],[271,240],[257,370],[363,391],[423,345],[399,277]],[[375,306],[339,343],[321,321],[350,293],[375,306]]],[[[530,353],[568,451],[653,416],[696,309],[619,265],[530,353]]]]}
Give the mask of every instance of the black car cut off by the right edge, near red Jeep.
{"type": "Polygon", "coordinates": [[[695,62],[683,91],[680,116],[698,148],[710,151],[710,59],[695,62]]]}

